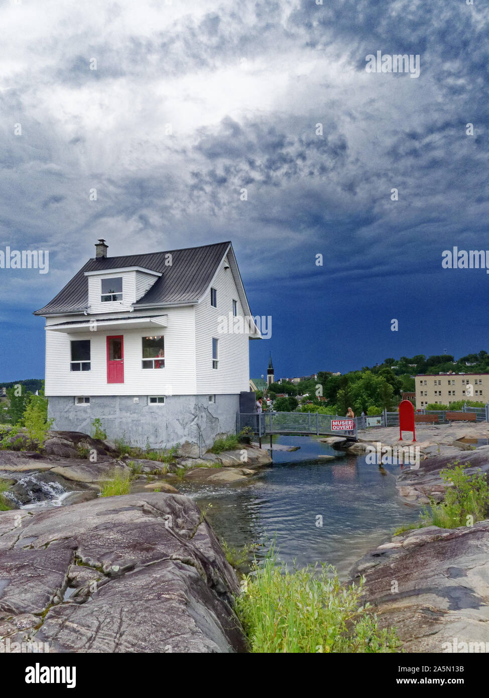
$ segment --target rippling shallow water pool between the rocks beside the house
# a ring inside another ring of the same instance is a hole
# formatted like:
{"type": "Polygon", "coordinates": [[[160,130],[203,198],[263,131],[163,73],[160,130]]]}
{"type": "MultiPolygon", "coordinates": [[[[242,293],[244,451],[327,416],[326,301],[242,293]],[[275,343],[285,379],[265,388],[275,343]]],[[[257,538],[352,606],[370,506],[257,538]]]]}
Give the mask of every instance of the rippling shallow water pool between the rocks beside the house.
{"type": "Polygon", "coordinates": [[[287,564],[328,563],[346,579],[356,560],[402,523],[419,518],[419,510],[398,497],[400,466],[368,465],[365,456],[324,461],[319,454],[337,452],[309,436],[280,436],[278,443],[301,450],[273,452],[273,466],[250,484],[176,485],[207,510],[217,535],[231,547],[275,535],[278,556],[287,564]]]}

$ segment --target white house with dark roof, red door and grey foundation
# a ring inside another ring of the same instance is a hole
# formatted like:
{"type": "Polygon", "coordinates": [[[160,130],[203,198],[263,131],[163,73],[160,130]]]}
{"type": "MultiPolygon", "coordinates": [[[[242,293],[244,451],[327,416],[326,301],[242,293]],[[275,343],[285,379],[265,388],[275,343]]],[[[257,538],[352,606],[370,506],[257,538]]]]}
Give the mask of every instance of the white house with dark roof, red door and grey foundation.
{"type": "Polygon", "coordinates": [[[236,430],[259,339],[230,242],[107,257],[102,239],[50,303],[46,380],[54,428],[133,445],[206,450],[236,430]]]}

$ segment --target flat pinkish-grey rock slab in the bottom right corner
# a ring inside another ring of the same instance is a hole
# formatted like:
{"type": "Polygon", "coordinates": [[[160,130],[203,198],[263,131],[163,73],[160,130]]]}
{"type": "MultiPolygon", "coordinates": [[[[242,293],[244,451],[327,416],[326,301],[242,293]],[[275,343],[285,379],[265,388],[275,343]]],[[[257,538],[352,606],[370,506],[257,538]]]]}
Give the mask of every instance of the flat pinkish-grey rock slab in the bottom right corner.
{"type": "Polygon", "coordinates": [[[471,642],[486,651],[489,521],[395,536],[362,558],[353,574],[355,581],[366,577],[364,597],[379,625],[395,626],[407,652],[449,652],[457,645],[460,651],[471,642]]]}

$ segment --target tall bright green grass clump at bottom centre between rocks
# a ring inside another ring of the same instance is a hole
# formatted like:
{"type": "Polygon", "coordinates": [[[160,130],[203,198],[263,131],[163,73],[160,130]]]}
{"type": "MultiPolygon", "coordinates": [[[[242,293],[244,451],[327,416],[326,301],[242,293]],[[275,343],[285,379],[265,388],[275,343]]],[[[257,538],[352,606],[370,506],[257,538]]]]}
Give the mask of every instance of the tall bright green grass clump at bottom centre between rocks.
{"type": "Polygon", "coordinates": [[[379,630],[362,584],[343,586],[332,567],[293,573],[276,565],[273,549],[241,582],[236,613],[254,653],[392,653],[393,629],[379,630]]]}

